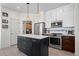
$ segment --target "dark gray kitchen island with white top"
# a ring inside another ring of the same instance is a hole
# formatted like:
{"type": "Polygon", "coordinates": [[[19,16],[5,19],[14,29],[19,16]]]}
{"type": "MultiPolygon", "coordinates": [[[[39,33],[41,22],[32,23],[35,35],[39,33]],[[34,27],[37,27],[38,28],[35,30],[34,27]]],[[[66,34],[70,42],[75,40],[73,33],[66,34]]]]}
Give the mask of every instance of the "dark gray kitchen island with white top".
{"type": "Polygon", "coordinates": [[[28,56],[48,56],[49,38],[33,35],[19,35],[17,48],[28,56]],[[35,37],[36,36],[36,37],[35,37]]]}

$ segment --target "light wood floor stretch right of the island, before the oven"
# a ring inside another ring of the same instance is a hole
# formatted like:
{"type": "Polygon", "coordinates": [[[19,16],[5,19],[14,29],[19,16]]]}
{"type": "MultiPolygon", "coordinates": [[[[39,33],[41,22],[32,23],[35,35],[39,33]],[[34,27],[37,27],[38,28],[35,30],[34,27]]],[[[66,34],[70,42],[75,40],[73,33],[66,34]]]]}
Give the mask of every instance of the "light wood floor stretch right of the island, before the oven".
{"type": "Polygon", "coordinates": [[[49,56],[74,56],[74,54],[64,50],[49,48],[49,56]]]}

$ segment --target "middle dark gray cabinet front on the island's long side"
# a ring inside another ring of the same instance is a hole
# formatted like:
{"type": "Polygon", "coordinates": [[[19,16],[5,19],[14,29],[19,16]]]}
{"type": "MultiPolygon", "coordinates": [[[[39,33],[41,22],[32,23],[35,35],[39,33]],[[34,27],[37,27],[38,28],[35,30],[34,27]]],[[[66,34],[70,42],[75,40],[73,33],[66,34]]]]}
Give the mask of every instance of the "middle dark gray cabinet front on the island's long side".
{"type": "Polygon", "coordinates": [[[32,41],[30,40],[30,38],[22,39],[22,49],[23,52],[27,55],[32,55],[32,41]]]}

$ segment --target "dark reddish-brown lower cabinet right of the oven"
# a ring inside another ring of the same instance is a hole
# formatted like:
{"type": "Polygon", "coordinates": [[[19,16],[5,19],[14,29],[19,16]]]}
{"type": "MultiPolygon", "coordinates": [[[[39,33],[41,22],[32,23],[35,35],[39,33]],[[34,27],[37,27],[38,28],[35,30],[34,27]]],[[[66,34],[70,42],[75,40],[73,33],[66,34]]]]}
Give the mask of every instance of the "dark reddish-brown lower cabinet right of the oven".
{"type": "Polygon", "coordinates": [[[75,37],[74,36],[62,36],[62,50],[75,52],[75,37]]]}

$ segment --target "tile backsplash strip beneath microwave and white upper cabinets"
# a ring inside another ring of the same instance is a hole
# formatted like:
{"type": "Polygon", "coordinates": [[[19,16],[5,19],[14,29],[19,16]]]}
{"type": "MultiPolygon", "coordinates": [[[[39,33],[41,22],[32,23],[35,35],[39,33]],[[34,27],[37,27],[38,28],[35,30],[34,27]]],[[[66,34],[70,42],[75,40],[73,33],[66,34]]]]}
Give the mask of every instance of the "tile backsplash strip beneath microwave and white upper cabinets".
{"type": "Polygon", "coordinates": [[[47,28],[46,33],[62,33],[74,35],[74,27],[47,28]]]}

